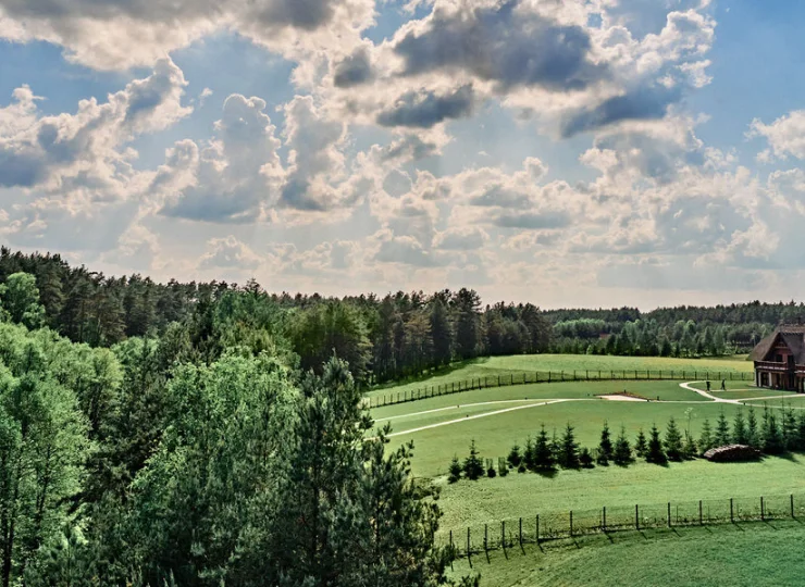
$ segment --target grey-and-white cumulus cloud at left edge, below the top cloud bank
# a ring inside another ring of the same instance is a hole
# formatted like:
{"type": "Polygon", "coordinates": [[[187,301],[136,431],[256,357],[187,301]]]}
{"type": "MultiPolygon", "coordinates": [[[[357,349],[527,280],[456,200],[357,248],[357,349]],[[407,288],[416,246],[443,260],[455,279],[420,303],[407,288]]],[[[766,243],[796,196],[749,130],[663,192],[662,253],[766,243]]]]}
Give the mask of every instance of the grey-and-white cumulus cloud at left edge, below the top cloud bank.
{"type": "Polygon", "coordinates": [[[82,100],[75,114],[57,116],[40,115],[30,89],[20,88],[14,102],[0,109],[0,186],[124,197],[122,177],[131,179],[129,161],[136,157],[126,143],[187,116],[186,85],[182,71],[164,59],[150,76],[109,95],[107,102],[82,100]]]}

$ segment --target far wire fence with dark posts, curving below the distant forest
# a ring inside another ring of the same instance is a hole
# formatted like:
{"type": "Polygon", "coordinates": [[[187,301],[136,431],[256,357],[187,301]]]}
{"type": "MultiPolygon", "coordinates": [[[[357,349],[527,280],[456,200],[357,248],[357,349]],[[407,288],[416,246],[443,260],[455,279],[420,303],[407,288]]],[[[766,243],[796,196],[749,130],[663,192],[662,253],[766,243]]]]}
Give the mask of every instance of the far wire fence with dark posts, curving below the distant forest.
{"type": "Polygon", "coordinates": [[[577,371],[535,371],[531,373],[511,373],[508,375],[493,375],[486,377],[473,377],[461,382],[451,382],[442,385],[431,385],[419,389],[405,391],[391,391],[381,396],[370,397],[369,408],[383,408],[384,405],[396,405],[410,401],[461,394],[474,389],[488,389],[495,387],[510,387],[515,385],[534,385],[549,383],[569,382],[648,382],[648,380],[729,380],[729,382],[754,382],[755,374],[752,372],[713,372],[713,371],[646,371],[646,370],[577,370],[577,371]]]}

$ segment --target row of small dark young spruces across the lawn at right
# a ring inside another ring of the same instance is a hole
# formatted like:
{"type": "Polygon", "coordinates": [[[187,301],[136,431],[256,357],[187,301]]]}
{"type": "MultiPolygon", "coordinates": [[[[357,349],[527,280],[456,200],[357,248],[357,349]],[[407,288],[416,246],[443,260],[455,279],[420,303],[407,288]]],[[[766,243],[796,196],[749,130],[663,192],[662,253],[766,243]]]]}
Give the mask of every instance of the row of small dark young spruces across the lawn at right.
{"type": "Polygon", "coordinates": [[[665,465],[669,461],[682,462],[703,457],[714,448],[741,445],[751,447],[764,454],[783,454],[805,451],[805,413],[796,413],[788,405],[781,410],[764,409],[760,417],[753,407],[744,413],[743,408],[735,412],[730,423],[723,412],[715,424],[705,419],[698,438],[690,433],[690,422],[682,428],[671,417],[665,434],[652,425],[646,434],[642,428],[630,441],[621,426],[614,437],[609,425],[604,422],[600,440],[596,447],[579,445],[575,428],[568,424],[561,435],[554,430],[549,435],[542,425],[540,432],[528,438],[524,445],[511,447],[507,457],[497,458],[497,466],[492,459],[484,459],[473,439],[470,451],[463,461],[455,455],[448,466],[448,482],[461,478],[470,480],[483,476],[506,476],[509,471],[518,473],[552,473],[557,469],[579,470],[594,466],[629,466],[637,460],[665,465]]]}

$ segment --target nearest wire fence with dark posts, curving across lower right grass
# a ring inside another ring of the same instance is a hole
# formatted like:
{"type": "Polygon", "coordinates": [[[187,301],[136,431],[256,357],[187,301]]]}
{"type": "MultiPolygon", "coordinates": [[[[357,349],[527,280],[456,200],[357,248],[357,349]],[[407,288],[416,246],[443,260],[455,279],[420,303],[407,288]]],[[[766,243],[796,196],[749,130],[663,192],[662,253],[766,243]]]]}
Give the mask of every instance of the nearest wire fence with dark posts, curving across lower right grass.
{"type": "Polygon", "coordinates": [[[790,494],[543,513],[441,532],[436,541],[461,559],[592,534],[797,519],[805,519],[805,495],[790,494]]]}

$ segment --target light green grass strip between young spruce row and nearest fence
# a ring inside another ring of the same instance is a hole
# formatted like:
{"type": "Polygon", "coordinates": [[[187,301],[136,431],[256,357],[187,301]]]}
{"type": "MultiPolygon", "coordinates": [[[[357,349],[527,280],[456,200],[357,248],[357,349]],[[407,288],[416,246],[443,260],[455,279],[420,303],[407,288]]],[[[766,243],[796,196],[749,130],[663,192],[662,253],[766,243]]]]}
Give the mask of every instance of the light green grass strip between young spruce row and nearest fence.
{"type": "Polygon", "coordinates": [[[444,534],[486,523],[494,526],[500,520],[569,510],[581,513],[604,505],[631,511],[635,503],[693,503],[702,499],[713,500],[715,509],[728,503],[730,497],[754,500],[758,496],[801,495],[805,492],[805,457],[730,464],[697,460],[668,467],[636,463],[627,469],[560,471],[554,478],[512,472],[503,478],[439,484],[438,502],[444,512],[439,532],[444,534]]]}

